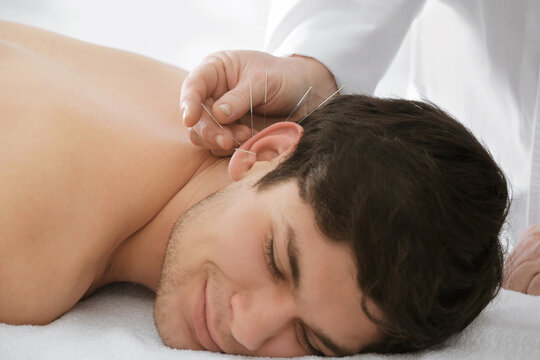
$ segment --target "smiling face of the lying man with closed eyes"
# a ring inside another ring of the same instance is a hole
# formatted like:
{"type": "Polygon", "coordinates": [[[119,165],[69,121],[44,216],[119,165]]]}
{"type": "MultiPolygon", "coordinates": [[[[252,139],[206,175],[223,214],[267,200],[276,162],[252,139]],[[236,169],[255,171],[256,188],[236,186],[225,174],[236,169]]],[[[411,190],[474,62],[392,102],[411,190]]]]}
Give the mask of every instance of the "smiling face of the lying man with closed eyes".
{"type": "Polygon", "coordinates": [[[175,225],[154,309],[165,344],[286,357],[340,355],[316,332],[348,353],[376,341],[348,246],[317,230],[295,182],[251,185],[231,184],[175,225]]]}

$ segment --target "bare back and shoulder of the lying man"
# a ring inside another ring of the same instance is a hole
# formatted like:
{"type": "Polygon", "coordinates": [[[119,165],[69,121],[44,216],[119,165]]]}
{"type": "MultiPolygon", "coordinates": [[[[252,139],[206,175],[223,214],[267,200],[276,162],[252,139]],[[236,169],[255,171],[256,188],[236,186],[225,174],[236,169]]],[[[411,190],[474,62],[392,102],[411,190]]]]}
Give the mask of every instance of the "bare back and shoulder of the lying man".
{"type": "Polygon", "coordinates": [[[207,154],[181,125],[185,75],[0,22],[2,321],[67,311],[197,171],[207,154]]]}

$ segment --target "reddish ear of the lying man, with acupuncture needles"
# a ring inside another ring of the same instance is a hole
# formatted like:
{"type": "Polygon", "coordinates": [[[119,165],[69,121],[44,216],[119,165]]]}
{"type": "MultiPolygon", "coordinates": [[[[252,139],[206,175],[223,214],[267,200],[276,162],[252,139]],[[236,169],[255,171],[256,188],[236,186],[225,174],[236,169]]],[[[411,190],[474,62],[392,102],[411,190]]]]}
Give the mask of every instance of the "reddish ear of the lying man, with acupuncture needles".
{"type": "Polygon", "coordinates": [[[242,179],[257,164],[284,157],[294,151],[304,129],[293,122],[279,122],[260,131],[237,149],[229,162],[229,176],[234,181],[242,179]],[[247,150],[249,152],[246,152],[247,150]]]}

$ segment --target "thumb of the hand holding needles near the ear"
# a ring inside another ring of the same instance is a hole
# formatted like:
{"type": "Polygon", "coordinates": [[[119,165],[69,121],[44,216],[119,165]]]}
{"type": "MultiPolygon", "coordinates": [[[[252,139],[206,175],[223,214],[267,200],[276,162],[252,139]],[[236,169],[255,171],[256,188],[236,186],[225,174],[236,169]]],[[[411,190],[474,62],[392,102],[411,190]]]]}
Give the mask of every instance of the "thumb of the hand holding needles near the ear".
{"type": "Polygon", "coordinates": [[[234,89],[226,92],[212,106],[212,112],[217,121],[230,124],[240,119],[251,109],[250,94],[255,107],[254,89],[248,81],[239,83],[234,89]]]}

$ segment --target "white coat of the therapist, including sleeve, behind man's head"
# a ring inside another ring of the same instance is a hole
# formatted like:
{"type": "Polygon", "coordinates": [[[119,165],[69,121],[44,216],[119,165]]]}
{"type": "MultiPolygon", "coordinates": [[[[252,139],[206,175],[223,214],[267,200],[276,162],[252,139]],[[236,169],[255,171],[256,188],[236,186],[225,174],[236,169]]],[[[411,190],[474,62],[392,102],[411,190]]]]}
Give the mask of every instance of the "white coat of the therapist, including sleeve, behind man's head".
{"type": "Polygon", "coordinates": [[[415,19],[409,83],[501,164],[515,241],[540,223],[540,0],[275,0],[266,48],[313,57],[346,92],[373,93],[415,19]]]}

